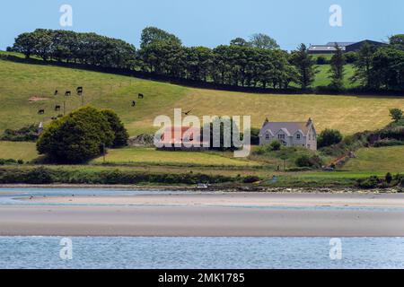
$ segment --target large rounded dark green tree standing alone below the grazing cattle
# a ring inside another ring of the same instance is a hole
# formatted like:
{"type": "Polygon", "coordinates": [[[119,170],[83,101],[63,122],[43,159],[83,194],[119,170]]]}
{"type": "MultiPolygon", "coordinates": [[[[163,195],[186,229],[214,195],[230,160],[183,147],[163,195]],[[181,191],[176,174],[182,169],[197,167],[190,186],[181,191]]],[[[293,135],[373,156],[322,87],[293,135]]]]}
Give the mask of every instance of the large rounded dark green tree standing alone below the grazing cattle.
{"type": "Polygon", "coordinates": [[[99,110],[85,107],[46,127],[37,149],[52,161],[81,163],[99,156],[113,141],[114,133],[107,118],[99,110]]]}

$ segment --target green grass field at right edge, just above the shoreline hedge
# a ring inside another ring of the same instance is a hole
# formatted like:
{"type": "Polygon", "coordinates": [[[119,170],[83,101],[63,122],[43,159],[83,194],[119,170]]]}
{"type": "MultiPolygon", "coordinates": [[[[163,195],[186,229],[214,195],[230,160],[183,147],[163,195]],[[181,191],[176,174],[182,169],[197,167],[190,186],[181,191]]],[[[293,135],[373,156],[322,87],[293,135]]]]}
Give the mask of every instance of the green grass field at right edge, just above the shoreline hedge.
{"type": "Polygon", "coordinates": [[[364,148],[344,166],[350,171],[404,172],[404,146],[364,148]]]}

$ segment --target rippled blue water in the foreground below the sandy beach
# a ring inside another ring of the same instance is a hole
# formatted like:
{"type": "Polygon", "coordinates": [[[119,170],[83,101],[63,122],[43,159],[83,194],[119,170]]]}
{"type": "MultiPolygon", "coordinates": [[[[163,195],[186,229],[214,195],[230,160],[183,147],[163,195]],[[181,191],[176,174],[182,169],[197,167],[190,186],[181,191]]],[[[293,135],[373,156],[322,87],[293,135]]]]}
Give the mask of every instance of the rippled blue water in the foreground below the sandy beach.
{"type": "Polygon", "coordinates": [[[59,237],[0,237],[0,268],[404,268],[404,238],[346,238],[342,259],[329,238],[72,239],[72,259],[59,257],[59,237]]]}

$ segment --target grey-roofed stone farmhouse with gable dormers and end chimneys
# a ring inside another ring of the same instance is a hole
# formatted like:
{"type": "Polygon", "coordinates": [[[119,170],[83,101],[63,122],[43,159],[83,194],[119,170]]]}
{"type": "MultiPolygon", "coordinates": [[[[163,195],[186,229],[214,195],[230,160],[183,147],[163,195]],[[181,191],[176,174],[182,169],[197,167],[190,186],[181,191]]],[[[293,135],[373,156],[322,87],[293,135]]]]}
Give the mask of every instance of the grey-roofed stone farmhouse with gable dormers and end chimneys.
{"type": "Polygon", "coordinates": [[[279,141],[285,146],[303,146],[317,150],[317,133],[312,118],[307,122],[270,122],[265,120],[259,132],[259,145],[279,141]]]}

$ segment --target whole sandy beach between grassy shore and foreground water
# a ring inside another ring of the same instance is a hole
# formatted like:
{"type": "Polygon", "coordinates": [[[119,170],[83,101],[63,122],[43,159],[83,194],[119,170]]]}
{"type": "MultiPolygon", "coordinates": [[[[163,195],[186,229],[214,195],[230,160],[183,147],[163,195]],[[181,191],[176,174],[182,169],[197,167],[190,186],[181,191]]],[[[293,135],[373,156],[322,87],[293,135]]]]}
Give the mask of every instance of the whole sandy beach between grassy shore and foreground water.
{"type": "Polygon", "coordinates": [[[24,200],[32,204],[0,205],[0,236],[404,236],[400,194],[72,195],[24,200]]]}

